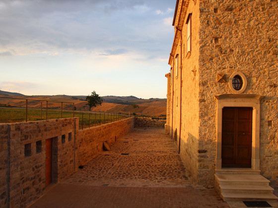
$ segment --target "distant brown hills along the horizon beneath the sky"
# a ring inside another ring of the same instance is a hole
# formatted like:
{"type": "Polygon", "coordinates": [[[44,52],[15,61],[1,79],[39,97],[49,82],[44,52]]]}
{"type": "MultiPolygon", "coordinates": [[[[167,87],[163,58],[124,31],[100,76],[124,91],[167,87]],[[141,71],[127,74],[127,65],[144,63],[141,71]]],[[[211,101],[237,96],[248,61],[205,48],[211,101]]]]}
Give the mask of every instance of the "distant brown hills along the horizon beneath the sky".
{"type": "MultiPolygon", "coordinates": [[[[25,107],[26,99],[39,100],[39,101],[49,101],[48,106],[51,108],[59,109],[61,107],[60,102],[64,102],[64,109],[71,110],[72,104],[76,107],[76,110],[88,109],[87,102],[85,101],[86,96],[69,96],[69,95],[54,95],[54,96],[25,96],[19,93],[10,93],[5,91],[0,91],[0,97],[9,96],[16,99],[1,99],[0,106],[16,106],[25,107]],[[22,100],[18,100],[22,99],[22,100]],[[51,102],[52,101],[52,102],[51,102]],[[57,103],[53,103],[57,102],[57,103]]],[[[149,116],[166,116],[166,106],[167,99],[141,99],[135,96],[103,96],[103,104],[92,108],[93,111],[102,112],[135,112],[138,115],[149,115],[149,116]],[[131,104],[137,104],[139,107],[133,108],[131,104]]],[[[39,101],[29,101],[28,107],[40,108],[41,102],[39,101]]]]}

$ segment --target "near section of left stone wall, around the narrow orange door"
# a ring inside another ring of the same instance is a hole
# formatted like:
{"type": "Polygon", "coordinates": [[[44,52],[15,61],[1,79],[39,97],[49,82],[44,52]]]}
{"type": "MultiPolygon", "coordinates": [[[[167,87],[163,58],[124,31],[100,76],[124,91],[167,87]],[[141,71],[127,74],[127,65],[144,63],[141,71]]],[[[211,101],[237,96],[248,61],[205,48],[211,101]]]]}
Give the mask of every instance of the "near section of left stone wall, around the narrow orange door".
{"type": "Polygon", "coordinates": [[[69,149],[74,147],[73,141],[69,144],[68,141],[61,144],[62,135],[72,132],[74,123],[74,118],[66,118],[0,125],[0,129],[10,129],[10,132],[7,132],[9,154],[6,155],[10,173],[7,174],[7,184],[5,184],[9,189],[5,197],[8,207],[25,207],[43,194],[46,139],[58,138],[56,176],[59,177],[53,178],[53,181],[59,181],[74,171],[73,162],[68,161],[69,157],[73,158],[73,154],[69,152],[69,149]],[[36,142],[41,142],[39,151],[37,151],[36,142]],[[25,145],[30,145],[27,152],[25,145]]]}

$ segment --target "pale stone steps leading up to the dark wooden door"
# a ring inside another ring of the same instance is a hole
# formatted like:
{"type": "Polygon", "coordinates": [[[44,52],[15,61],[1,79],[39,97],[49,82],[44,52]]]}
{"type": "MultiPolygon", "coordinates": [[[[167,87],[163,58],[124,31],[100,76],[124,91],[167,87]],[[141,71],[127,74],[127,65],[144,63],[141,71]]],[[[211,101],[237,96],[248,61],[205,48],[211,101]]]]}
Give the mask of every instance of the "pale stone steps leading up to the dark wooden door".
{"type": "MultiPolygon", "coordinates": [[[[254,173],[254,172],[253,172],[254,173]]],[[[215,173],[215,188],[224,201],[277,200],[269,180],[259,174],[215,173]]]]}

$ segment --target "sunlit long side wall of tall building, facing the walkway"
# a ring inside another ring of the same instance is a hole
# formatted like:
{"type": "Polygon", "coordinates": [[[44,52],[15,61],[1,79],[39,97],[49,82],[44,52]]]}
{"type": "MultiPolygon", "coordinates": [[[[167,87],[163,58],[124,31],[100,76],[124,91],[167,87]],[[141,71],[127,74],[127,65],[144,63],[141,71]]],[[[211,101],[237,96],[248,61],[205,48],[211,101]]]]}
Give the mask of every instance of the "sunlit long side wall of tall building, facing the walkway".
{"type": "MultiPolygon", "coordinates": [[[[178,15],[181,9],[181,2],[178,15]]],[[[186,0],[187,9],[183,8],[185,20],[181,33],[177,33],[177,47],[173,56],[179,55],[179,69],[176,74],[176,62],[171,63],[173,67],[173,140],[180,146],[180,156],[187,166],[187,170],[194,182],[198,181],[198,143],[199,143],[199,0],[186,0]],[[191,52],[187,53],[187,24],[186,20],[191,16],[191,52]],[[181,57],[181,58],[180,58],[181,57]],[[181,81],[182,78],[182,81],[181,81]],[[182,83],[182,88],[181,88],[182,83]],[[182,92],[181,92],[182,90],[182,92]],[[181,100],[180,100],[181,99],[181,100]],[[181,122],[181,127],[180,127],[181,122]],[[181,131],[181,132],[180,132],[181,131]],[[176,132],[176,133],[175,133],[176,132]],[[179,140],[180,135],[180,140],[179,140]],[[180,142],[180,144],[179,144],[180,142]]],[[[178,25],[177,16],[175,28],[178,25]]],[[[171,124],[170,124],[171,125],[171,124]]]]}

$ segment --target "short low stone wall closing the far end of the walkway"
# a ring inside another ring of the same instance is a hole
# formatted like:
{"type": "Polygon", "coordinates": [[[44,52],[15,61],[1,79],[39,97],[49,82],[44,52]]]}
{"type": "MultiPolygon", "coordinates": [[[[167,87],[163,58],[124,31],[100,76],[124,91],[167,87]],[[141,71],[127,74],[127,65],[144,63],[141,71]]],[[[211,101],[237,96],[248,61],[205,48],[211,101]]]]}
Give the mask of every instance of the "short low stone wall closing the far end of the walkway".
{"type": "Polygon", "coordinates": [[[164,128],[166,119],[151,119],[147,117],[135,117],[135,126],[137,128],[164,128]]]}

